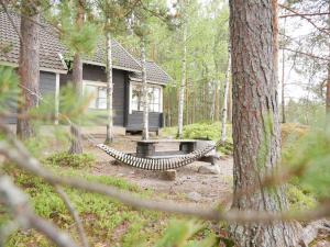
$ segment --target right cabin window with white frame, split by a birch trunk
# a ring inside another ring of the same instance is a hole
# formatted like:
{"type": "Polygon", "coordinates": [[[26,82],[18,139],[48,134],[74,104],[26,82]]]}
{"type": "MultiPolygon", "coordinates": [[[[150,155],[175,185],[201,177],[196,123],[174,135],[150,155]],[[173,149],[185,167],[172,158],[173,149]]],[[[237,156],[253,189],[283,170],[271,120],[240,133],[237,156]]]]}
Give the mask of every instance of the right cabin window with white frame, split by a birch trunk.
{"type": "MultiPolygon", "coordinates": [[[[131,111],[143,111],[142,85],[131,85],[131,111]]],[[[162,112],[162,88],[147,87],[148,111],[162,112]]]]}

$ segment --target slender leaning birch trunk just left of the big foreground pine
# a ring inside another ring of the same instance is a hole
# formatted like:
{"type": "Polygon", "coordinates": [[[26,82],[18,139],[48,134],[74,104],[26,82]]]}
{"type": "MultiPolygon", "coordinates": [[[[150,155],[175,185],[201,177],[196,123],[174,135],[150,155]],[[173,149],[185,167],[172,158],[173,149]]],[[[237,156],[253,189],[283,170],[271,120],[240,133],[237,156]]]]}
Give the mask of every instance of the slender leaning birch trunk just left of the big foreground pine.
{"type": "Polygon", "coordinates": [[[227,139],[227,111],[228,111],[228,92],[229,92],[229,83],[230,83],[230,71],[231,71],[231,53],[230,48],[228,49],[228,68],[226,72],[226,81],[223,88],[223,106],[221,111],[221,141],[224,142],[227,139]]]}

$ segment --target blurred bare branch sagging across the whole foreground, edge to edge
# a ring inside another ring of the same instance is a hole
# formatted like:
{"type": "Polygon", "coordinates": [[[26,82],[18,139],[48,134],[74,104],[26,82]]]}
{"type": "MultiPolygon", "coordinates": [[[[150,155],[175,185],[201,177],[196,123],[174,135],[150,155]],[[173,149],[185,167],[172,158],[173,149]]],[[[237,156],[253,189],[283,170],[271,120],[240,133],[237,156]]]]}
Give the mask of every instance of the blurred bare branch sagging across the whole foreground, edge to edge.
{"type": "MultiPolygon", "coordinates": [[[[4,126],[0,124],[0,127],[4,130],[4,126]]],[[[8,134],[8,133],[7,133],[8,134]]],[[[43,178],[48,183],[68,186],[76,189],[85,190],[88,192],[95,192],[105,194],[111,199],[116,199],[129,206],[139,210],[153,210],[167,213],[182,214],[187,216],[195,216],[211,221],[227,221],[237,223],[251,223],[251,222],[263,222],[271,223],[274,221],[292,221],[292,220],[315,220],[326,216],[330,216],[330,203],[320,205],[318,211],[306,211],[306,212],[263,212],[263,211],[239,211],[230,210],[228,212],[220,211],[218,209],[199,209],[186,205],[178,205],[169,201],[154,201],[150,199],[141,199],[133,193],[119,190],[114,187],[105,186],[101,183],[94,183],[82,179],[59,177],[53,172],[46,170],[41,166],[38,160],[33,158],[25,149],[23,144],[15,139],[13,135],[8,134],[10,142],[13,144],[9,145],[4,142],[0,142],[0,154],[4,155],[10,160],[14,161],[20,168],[30,171],[43,178]]]]}

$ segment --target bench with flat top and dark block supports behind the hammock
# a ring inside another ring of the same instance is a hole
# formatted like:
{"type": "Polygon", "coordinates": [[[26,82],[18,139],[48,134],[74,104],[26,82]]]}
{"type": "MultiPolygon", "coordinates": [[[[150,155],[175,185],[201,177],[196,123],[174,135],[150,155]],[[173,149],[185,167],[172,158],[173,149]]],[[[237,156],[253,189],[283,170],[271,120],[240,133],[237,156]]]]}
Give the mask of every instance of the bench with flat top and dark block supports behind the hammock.
{"type": "MultiPolygon", "coordinates": [[[[212,141],[200,141],[200,139],[148,139],[136,142],[136,156],[141,158],[174,158],[182,155],[189,154],[196,149],[202,148],[206,145],[215,145],[212,141]],[[178,144],[178,150],[156,151],[156,145],[158,144],[178,144]]],[[[216,150],[211,150],[200,161],[206,161],[215,165],[216,159],[219,159],[219,155],[216,150]]]]}

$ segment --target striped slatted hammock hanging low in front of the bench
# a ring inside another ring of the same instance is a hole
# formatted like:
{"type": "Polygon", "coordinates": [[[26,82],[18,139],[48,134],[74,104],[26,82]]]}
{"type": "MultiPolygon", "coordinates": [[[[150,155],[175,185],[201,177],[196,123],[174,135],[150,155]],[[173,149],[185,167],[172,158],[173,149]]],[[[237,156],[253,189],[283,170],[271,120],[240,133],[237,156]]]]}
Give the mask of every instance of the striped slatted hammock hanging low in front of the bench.
{"type": "Polygon", "coordinates": [[[217,146],[222,144],[221,141],[217,142],[216,145],[207,145],[204,148],[191,151],[187,155],[182,155],[175,158],[139,158],[133,155],[125,154],[123,151],[111,148],[105,144],[98,144],[97,147],[106,151],[108,155],[113,157],[120,162],[123,162],[128,166],[132,166],[143,170],[169,170],[176,169],[183,166],[187,166],[197,159],[201,158],[217,146]]]}

